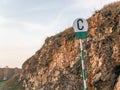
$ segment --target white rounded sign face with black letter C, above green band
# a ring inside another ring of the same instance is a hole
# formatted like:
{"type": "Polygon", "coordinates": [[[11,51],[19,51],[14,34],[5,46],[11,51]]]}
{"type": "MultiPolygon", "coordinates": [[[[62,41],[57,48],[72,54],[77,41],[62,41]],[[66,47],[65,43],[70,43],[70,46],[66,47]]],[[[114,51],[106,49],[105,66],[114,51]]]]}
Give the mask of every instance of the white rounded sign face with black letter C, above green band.
{"type": "Polygon", "coordinates": [[[77,18],[73,22],[73,28],[75,32],[87,32],[88,31],[88,23],[83,18],[77,18]]]}

